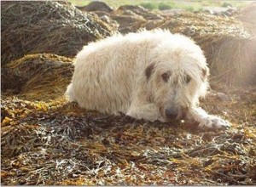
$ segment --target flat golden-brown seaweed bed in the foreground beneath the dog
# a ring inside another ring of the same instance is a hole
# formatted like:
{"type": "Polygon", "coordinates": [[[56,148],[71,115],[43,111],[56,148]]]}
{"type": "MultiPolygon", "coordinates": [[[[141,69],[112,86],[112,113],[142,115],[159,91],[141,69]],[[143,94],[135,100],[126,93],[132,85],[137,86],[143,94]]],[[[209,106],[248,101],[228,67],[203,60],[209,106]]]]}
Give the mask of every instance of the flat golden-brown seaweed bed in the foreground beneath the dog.
{"type": "Polygon", "coordinates": [[[65,89],[3,94],[2,184],[256,184],[256,88],[212,89],[202,106],[228,130],[85,111],[65,89]]]}

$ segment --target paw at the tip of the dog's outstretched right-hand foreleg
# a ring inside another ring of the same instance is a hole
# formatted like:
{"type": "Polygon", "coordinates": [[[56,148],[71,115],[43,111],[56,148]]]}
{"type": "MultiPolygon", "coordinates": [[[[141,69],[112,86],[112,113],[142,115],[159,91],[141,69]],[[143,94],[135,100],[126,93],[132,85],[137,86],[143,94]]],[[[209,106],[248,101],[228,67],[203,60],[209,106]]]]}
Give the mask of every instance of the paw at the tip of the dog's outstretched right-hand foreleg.
{"type": "Polygon", "coordinates": [[[212,129],[227,129],[230,127],[230,122],[218,116],[207,116],[201,119],[199,127],[212,129]]]}

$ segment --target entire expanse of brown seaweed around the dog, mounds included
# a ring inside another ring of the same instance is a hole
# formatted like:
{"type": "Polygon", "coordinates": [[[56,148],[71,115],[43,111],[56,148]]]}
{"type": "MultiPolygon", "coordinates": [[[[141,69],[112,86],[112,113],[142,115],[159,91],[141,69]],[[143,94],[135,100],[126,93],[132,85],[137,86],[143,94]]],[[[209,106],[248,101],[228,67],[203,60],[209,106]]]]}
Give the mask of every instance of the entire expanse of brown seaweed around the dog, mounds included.
{"type": "Polygon", "coordinates": [[[256,184],[255,25],[245,21],[255,20],[247,19],[253,8],[241,14],[247,26],[226,15],[137,6],[83,14],[61,2],[1,5],[1,184],[256,184]],[[66,57],[115,30],[143,27],[180,32],[201,46],[212,74],[201,106],[230,129],[109,116],[65,99],[73,74],[66,57]]]}

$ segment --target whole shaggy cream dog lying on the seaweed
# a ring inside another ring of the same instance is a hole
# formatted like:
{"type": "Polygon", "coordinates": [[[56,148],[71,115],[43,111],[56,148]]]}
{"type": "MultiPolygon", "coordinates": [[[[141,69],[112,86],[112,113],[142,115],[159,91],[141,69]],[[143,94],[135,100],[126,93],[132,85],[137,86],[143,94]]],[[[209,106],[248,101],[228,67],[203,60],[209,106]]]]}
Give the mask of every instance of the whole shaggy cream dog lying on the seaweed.
{"type": "Polygon", "coordinates": [[[208,68],[201,48],[170,31],[139,31],[92,42],[75,59],[67,96],[80,107],[148,121],[193,120],[200,127],[229,122],[202,110],[208,68]]]}

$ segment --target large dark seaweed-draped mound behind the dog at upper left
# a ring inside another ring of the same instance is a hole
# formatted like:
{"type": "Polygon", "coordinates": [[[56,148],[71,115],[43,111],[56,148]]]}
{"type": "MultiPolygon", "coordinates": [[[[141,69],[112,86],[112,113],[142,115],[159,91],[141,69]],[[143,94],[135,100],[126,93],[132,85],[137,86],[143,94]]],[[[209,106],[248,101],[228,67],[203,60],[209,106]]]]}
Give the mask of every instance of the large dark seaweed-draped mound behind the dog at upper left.
{"type": "Polygon", "coordinates": [[[95,14],[71,3],[8,1],[1,3],[1,63],[24,54],[75,56],[88,42],[111,35],[95,14]]]}

